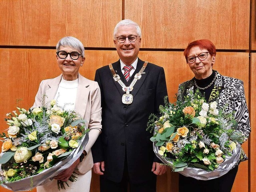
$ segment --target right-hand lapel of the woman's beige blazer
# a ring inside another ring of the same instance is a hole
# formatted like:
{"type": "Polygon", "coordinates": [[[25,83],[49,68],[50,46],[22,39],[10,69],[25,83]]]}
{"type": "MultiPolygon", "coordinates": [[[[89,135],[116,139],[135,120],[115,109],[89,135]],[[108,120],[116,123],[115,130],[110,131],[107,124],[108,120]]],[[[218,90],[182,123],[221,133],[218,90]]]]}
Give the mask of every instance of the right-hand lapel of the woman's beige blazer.
{"type": "Polygon", "coordinates": [[[89,83],[86,78],[78,74],[78,88],[76,94],[75,109],[82,117],[84,117],[86,106],[88,103],[88,97],[90,89],[88,89],[89,83]]]}

